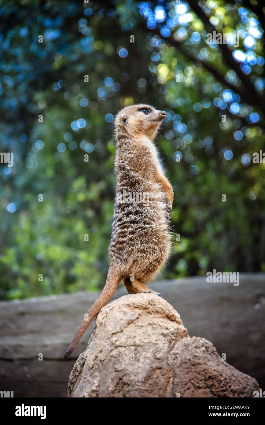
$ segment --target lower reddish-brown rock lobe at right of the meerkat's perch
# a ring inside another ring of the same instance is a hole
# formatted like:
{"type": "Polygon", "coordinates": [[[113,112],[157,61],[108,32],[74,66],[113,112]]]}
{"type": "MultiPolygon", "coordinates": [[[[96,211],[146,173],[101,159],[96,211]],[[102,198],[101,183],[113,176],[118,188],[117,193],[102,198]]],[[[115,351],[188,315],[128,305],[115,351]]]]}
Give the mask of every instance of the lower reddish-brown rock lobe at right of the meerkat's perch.
{"type": "Polygon", "coordinates": [[[169,397],[253,397],[257,381],[228,365],[204,338],[183,338],[169,354],[169,397]]]}

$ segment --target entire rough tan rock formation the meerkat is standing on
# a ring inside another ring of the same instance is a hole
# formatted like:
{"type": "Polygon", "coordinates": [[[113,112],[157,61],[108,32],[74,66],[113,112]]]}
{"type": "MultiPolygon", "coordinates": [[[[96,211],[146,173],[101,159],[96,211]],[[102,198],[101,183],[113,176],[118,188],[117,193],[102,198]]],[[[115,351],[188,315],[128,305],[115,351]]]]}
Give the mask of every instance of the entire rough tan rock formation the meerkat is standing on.
{"type": "Polygon", "coordinates": [[[68,397],[253,397],[258,389],[209,341],[190,338],[163,298],[138,294],[101,309],[68,397]]]}

